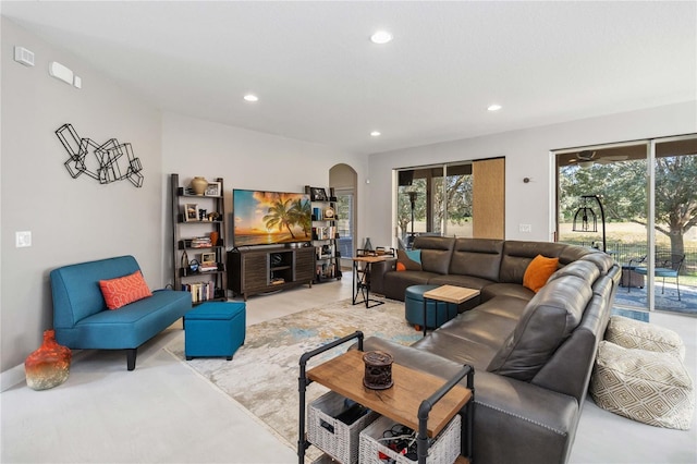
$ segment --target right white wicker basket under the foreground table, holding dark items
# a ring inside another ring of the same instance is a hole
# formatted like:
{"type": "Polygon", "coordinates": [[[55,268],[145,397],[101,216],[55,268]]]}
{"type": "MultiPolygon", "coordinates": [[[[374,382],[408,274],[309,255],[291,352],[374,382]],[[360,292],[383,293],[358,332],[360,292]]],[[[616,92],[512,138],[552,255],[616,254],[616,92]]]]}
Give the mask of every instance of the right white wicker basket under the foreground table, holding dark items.
{"type": "MultiPolygon", "coordinates": [[[[382,438],[384,430],[392,428],[395,424],[389,417],[381,416],[360,432],[359,462],[362,464],[384,464],[384,461],[379,459],[379,453],[391,457],[396,464],[414,464],[416,462],[416,460],[412,461],[405,455],[389,449],[383,442],[378,441],[379,438],[382,438]]],[[[426,463],[453,464],[460,455],[460,435],[461,424],[460,415],[457,414],[428,449],[426,463]]]]}

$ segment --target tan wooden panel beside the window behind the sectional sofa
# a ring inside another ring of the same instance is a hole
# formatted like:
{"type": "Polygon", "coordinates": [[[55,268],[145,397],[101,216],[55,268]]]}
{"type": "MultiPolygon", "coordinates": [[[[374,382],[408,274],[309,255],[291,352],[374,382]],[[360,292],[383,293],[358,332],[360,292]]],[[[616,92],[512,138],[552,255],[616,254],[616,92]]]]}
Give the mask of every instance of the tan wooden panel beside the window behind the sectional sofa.
{"type": "Polygon", "coordinates": [[[505,239],[505,158],[473,162],[473,236],[505,239]]]}

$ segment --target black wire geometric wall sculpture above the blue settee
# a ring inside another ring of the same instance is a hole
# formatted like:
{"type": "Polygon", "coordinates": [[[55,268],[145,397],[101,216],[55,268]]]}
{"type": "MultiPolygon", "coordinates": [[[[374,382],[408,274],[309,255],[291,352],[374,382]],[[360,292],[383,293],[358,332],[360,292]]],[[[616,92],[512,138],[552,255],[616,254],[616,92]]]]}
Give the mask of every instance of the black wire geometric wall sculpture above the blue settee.
{"type": "Polygon", "coordinates": [[[63,164],[73,179],[85,173],[100,184],[127,179],[136,187],[143,186],[143,166],[133,154],[131,144],[119,144],[115,138],[110,138],[97,145],[91,138],[78,137],[72,124],[61,125],[56,135],[70,155],[63,164]],[[90,151],[94,157],[88,158],[90,151]]]}

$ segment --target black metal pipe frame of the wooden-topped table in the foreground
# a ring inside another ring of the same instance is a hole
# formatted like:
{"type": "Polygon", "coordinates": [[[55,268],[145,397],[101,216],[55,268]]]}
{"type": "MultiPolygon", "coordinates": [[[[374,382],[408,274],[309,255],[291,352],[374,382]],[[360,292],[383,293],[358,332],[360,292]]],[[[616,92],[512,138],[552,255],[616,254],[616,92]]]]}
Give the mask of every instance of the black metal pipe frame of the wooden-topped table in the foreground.
{"type": "MultiPolygon", "coordinates": [[[[297,462],[298,464],[305,464],[305,451],[310,447],[310,442],[305,435],[305,395],[307,392],[307,386],[313,381],[307,378],[307,362],[333,347],[344,344],[351,340],[358,340],[358,351],[363,351],[364,334],[362,331],[355,331],[354,333],[343,337],[333,342],[327,343],[318,349],[304,353],[299,359],[301,374],[297,378],[297,391],[299,393],[299,425],[298,425],[298,439],[297,439],[297,462]]],[[[453,389],[462,379],[467,377],[467,389],[472,392],[469,401],[465,405],[465,420],[467,427],[467,435],[465,438],[465,457],[472,463],[473,456],[473,426],[474,426],[474,404],[475,404],[475,369],[474,367],[465,364],[463,368],[455,374],[450,380],[448,380],[441,388],[439,388],[428,399],[421,401],[418,407],[418,431],[416,435],[416,449],[418,464],[426,464],[426,457],[428,456],[428,415],[433,408],[433,405],[438,403],[450,390],[453,389]]],[[[462,452],[461,452],[462,454],[462,452]]]]}

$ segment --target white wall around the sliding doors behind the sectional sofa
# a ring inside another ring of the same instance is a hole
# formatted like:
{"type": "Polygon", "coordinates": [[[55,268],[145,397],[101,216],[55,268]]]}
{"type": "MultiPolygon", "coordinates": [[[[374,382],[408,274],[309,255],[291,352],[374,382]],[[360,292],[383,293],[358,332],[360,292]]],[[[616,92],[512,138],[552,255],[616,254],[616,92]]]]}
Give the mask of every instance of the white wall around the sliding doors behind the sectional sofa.
{"type": "MultiPolygon", "coordinates": [[[[560,103],[561,105],[561,103],[560,103]]],[[[370,207],[365,231],[374,245],[393,243],[392,170],[435,162],[505,157],[505,237],[551,241],[553,160],[550,150],[697,132],[697,102],[413,147],[369,157],[370,207]],[[523,183],[530,178],[530,183],[523,183]],[[518,224],[531,224],[530,233],[518,224]]]]}

